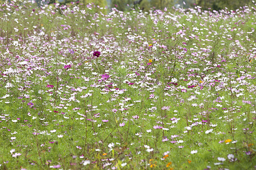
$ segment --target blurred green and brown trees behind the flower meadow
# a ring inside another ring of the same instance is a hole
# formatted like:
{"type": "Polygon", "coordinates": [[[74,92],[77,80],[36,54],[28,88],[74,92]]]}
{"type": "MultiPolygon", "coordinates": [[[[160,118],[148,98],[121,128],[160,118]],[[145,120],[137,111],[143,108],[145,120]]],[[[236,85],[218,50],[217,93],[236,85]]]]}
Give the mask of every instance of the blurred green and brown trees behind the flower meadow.
{"type": "MultiPolygon", "coordinates": [[[[35,1],[37,3],[41,2],[41,0],[35,1]]],[[[50,4],[60,3],[61,5],[73,1],[74,0],[48,0],[50,4]]],[[[131,8],[143,11],[149,11],[151,8],[163,10],[165,7],[170,10],[172,7],[193,8],[195,6],[201,6],[202,10],[218,11],[225,8],[228,10],[236,10],[240,7],[254,4],[252,0],[82,0],[80,3],[83,3],[85,6],[90,4],[92,7],[106,7],[109,8],[109,10],[116,8],[119,11],[130,11],[131,8]]],[[[103,12],[106,12],[106,10],[103,10],[103,12]]]]}

